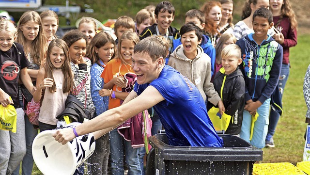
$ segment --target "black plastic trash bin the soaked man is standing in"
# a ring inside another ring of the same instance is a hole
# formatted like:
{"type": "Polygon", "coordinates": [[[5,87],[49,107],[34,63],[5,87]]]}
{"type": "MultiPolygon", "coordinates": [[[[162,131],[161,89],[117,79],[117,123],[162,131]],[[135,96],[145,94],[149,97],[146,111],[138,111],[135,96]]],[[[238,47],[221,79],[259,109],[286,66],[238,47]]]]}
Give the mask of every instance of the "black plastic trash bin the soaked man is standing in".
{"type": "Polygon", "coordinates": [[[146,175],[251,175],[253,163],[263,160],[263,151],[233,135],[219,134],[224,146],[169,145],[166,134],[149,137],[152,149],[146,175]]]}

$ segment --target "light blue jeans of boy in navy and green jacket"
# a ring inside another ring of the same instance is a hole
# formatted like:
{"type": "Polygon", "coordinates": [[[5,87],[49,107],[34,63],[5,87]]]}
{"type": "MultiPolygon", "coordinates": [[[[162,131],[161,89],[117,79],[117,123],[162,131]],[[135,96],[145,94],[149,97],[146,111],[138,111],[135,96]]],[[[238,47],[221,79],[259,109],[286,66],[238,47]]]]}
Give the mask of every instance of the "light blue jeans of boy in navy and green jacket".
{"type": "Polygon", "coordinates": [[[251,145],[257,148],[265,147],[265,139],[268,131],[269,124],[269,108],[270,108],[270,98],[266,99],[266,101],[257,109],[259,114],[253,129],[253,137],[250,141],[250,132],[251,132],[251,114],[244,110],[243,111],[243,121],[241,126],[240,138],[244,139],[251,145]]]}

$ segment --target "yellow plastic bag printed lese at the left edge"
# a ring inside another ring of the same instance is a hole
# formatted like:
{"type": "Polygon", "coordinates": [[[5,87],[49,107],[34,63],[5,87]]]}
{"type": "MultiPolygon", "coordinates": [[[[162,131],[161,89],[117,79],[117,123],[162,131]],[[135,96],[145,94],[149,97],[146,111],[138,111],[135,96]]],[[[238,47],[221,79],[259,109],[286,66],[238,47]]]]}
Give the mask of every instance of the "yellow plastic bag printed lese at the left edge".
{"type": "Polygon", "coordinates": [[[12,105],[6,107],[0,105],[0,122],[2,130],[16,132],[17,113],[12,105]]]}

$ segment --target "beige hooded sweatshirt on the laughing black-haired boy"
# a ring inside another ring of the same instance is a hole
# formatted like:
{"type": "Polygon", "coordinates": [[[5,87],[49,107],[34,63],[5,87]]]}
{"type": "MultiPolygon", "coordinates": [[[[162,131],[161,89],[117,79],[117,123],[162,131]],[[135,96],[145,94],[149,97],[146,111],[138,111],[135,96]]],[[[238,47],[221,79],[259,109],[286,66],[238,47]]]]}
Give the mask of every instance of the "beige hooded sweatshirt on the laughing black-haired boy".
{"type": "Polygon", "coordinates": [[[221,99],[215,91],[211,80],[210,57],[203,52],[202,47],[197,47],[197,55],[191,60],[184,54],[183,45],[179,45],[171,54],[168,65],[175,68],[182,75],[187,77],[198,88],[204,100],[217,105],[221,99]]]}

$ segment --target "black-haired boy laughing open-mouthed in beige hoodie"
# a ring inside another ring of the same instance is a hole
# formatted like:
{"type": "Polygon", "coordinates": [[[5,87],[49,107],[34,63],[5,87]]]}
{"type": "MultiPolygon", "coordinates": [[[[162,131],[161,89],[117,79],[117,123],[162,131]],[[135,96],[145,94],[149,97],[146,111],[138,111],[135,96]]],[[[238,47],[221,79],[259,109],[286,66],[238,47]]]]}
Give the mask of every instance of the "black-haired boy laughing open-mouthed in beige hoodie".
{"type": "Polygon", "coordinates": [[[175,68],[182,75],[192,81],[202,94],[215,106],[218,105],[220,113],[225,111],[223,102],[215,91],[211,80],[210,57],[203,53],[199,44],[202,41],[201,30],[192,22],[181,27],[181,42],[169,58],[168,65],[175,68]]]}

